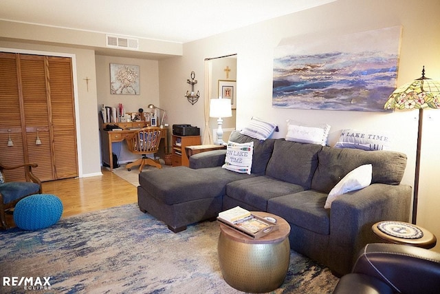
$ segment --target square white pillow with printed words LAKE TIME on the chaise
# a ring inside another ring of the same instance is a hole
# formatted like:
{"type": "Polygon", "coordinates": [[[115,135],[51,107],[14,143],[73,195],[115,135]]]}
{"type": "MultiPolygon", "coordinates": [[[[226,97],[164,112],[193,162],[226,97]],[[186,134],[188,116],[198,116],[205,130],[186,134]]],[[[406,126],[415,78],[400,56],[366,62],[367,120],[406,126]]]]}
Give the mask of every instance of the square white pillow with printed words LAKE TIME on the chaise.
{"type": "Polygon", "coordinates": [[[254,142],[235,143],[228,142],[225,164],[223,169],[236,171],[241,174],[250,174],[252,167],[252,155],[254,154],[254,142]]]}

